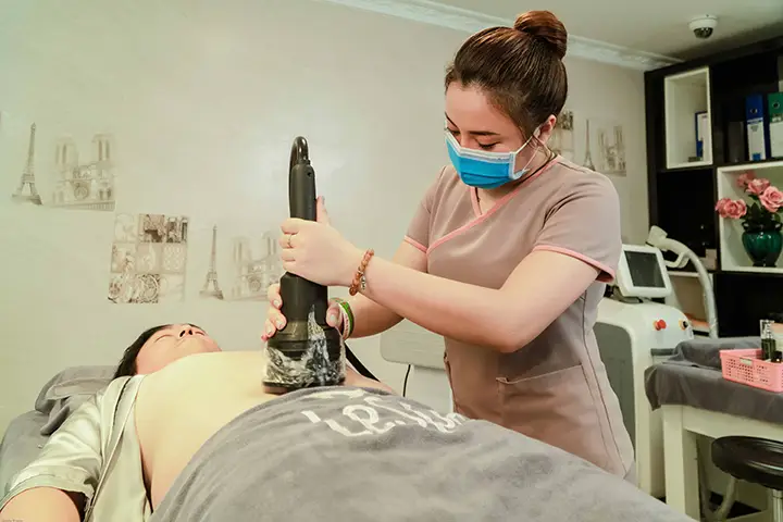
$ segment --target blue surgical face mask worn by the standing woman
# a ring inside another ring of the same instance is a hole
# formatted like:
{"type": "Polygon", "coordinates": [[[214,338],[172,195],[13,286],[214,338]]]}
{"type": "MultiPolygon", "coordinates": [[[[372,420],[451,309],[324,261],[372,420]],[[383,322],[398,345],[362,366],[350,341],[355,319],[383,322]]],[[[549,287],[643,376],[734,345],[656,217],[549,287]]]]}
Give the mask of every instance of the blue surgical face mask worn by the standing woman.
{"type": "Polygon", "coordinates": [[[497,188],[507,183],[514,182],[530,172],[530,161],[517,171],[517,154],[527,147],[533,138],[538,137],[538,128],[527,138],[522,147],[511,152],[490,152],[487,150],[467,149],[462,147],[453,135],[446,130],[446,147],[448,147],[451,164],[462,179],[462,183],[476,188],[497,188]]]}

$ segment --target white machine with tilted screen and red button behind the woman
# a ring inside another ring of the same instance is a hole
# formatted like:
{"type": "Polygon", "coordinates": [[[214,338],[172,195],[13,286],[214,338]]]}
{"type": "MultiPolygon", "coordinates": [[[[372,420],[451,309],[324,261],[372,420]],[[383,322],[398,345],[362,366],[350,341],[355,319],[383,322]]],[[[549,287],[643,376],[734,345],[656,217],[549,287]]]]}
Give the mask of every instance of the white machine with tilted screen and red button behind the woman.
{"type": "Polygon", "coordinates": [[[644,373],[694,337],[682,311],[652,300],[671,291],[660,249],[623,245],[616,285],[598,304],[595,325],[598,349],[636,450],[638,485],[656,497],[664,495],[663,432],[660,411],[654,412],[647,400],[644,373]]]}

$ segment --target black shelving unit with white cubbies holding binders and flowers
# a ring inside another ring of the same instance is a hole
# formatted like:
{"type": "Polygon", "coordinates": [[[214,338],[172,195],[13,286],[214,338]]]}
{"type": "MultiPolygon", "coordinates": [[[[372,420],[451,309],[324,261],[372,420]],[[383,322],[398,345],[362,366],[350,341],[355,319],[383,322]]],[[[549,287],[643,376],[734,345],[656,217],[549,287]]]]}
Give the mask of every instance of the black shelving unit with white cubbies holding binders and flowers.
{"type": "MultiPolygon", "coordinates": [[[[758,335],[759,319],[783,313],[783,256],[776,268],[753,266],[741,223],[714,211],[722,197],[749,202],[736,184],[744,172],[783,189],[783,158],[749,161],[745,134],[745,99],[782,90],[781,57],[778,37],[645,74],[650,225],[717,259],[710,272],[721,336],[758,335]]],[[[685,303],[693,308],[700,296],[695,274],[686,268],[671,275],[689,312],[685,303]]]]}

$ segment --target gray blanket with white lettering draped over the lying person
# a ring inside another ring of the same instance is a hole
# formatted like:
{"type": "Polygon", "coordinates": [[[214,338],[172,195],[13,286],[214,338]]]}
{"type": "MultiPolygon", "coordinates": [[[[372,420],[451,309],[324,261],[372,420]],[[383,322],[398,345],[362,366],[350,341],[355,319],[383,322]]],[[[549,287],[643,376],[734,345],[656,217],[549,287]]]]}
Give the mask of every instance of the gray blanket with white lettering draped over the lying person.
{"type": "Polygon", "coordinates": [[[484,421],[316,388],[243,413],[150,522],[688,521],[630,483],[484,421]]]}

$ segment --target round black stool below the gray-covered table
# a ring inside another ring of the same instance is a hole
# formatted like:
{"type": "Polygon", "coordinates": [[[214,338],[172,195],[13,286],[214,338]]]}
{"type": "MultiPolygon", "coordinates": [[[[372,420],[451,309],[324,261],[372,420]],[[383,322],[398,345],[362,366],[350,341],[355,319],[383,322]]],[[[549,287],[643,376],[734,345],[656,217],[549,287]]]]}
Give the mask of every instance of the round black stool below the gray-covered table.
{"type": "Polygon", "coordinates": [[[772,490],[772,520],[783,522],[783,443],[756,437],[712,442],[712,462],[731,476],[772,490]]]}

